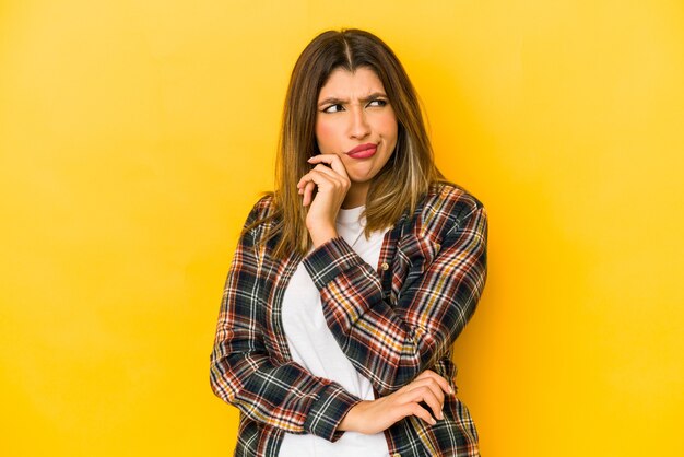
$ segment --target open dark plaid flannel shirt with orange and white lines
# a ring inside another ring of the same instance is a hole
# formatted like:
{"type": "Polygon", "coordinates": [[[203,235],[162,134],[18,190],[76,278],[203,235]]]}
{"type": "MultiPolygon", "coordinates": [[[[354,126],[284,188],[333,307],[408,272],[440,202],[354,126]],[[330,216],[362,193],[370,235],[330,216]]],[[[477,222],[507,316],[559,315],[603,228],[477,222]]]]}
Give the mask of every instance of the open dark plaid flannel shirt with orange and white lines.
{"type": "MultiPolygon", "coordinates": [[[[261,199],[246,226],[273,211],[261,199]]],[[[436,187],[385,235],[379,266],[364,262],[341,237],[306,257],[270,256],[259,243],[273,221],[243,234],[225,284],[211,354],[211,386],[240,410],[236,456],[278,456],[285,432],[337,441],[359,398],[292,360],[281,319],[285,288],[303,261],[320,291],[328,327],[376,398],[424,370],[456,391],[451,344],[473,314],[486,279],[487,218],[461,188],[436,187]]],[[[447,395],[444,420],[405,418],[385,432],[391,456],[479,456],[465,406],[447,395]]]]}

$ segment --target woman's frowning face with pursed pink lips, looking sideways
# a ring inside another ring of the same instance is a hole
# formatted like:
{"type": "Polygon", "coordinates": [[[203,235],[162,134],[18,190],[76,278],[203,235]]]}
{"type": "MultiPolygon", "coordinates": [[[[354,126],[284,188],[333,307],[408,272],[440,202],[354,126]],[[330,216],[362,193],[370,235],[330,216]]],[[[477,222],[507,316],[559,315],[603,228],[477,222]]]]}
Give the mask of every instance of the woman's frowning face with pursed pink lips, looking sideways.
{"type": "Polygon", "coordinates": [[[377,74],[365,67],[334,70],[318,94],[316,140],[322,154],[337,154],[365,192],[397,145],[397,117],[377,74]]]}

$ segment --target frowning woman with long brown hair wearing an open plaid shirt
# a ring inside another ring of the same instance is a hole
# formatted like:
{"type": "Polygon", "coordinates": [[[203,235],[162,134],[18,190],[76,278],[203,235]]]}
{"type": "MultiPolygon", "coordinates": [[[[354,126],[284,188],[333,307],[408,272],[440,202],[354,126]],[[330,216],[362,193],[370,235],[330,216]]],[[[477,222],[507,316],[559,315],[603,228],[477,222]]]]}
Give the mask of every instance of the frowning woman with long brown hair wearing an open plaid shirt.
{"type": "Polygon", "coordinates": [[[486,212],[434,165],[387,45],[317,36],[279,149],[211,356],[212,389],[240,410],[235,455],[479,455],[450,348],[484,288],[486,212]]]}

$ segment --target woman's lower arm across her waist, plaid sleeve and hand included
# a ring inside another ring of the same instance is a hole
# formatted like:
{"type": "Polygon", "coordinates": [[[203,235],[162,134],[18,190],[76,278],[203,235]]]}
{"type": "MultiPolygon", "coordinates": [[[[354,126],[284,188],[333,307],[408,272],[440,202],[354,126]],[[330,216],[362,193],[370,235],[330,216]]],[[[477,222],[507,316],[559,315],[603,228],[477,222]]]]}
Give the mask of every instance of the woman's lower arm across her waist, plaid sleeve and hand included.
{"type": "MultiPolygon", "coordinates": [[[[260,201],[245,226],[261,218],[267,206],[260,201]]],[[[244,233],[226,280],[211,354],[211,387],[217,397],[255,421],[332,442],[344,431],[381,432],[408,415],[434,423],[424,405],[441,419],[444,395],[450,394],[450,387],[434,372],[422,373],[390,396],[361,401],[295,362],[276,363],[270,358],[256,316],[258,265],[253,232],[244,233]]]]}

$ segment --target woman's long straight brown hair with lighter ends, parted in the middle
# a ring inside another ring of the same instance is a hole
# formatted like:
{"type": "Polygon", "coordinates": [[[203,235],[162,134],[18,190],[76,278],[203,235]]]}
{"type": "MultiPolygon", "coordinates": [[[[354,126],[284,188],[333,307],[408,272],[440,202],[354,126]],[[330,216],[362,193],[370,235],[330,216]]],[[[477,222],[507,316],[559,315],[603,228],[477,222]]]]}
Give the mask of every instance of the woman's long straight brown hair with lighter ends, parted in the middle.
{"type": "MultiPolygon", "coordinates": [[[[296,186],[310,171],[307,159],[320,153],[315,134],[318,95],[334,70],[354,72],[361,67],[378,75],[398,122],[394,152],[368,189],[366,236],[392,226],[405,210],[414,211],[429,186],[444,179],[434,164],[416,92],[394,52],[368,32],[323,32],[297,59],[285,97],[275,166],[275,212],[271,216],[275,224],[266,238],[280,236],[275,257],[292,251],[304,255],[311,246],[306,209],[296,186]]],[[[260,222],[263,221],[255,225],[260,222]]]]}

